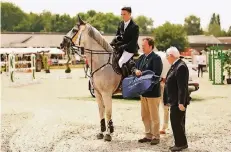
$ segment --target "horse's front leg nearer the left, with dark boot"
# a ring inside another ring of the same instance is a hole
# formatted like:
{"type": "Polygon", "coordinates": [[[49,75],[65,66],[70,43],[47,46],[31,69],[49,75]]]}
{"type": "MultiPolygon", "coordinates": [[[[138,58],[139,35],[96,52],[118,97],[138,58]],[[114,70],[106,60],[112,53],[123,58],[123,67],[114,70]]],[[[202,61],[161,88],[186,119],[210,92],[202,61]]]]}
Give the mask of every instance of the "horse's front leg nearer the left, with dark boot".
{"type": "Polygon", "coordinates": [[[100,116],[100,133],[97,134],[97,139],[103,139],[104,137],[103,132],[106,131],[106,124],[105,124],[105,118],[104,118],[105,106],[103,103],[102,95],[97,90],[95,90],[95,97],[98,103],[99,116],[100,116]]]}

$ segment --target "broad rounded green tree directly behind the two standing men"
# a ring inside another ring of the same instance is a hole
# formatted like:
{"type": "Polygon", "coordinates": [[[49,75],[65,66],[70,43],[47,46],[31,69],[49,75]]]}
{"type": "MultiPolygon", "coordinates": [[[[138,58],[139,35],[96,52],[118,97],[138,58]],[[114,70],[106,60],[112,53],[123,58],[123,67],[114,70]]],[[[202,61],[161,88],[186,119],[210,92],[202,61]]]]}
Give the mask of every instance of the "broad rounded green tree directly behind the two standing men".
{"type": "Polygon", "coordinates": [[[184,51],[188,46],[187,33],[185,28],[179,24],[166,22],[154,30],[157,49],[167,50],[170,46],[175,46],[179,51],[184,51]]]}

